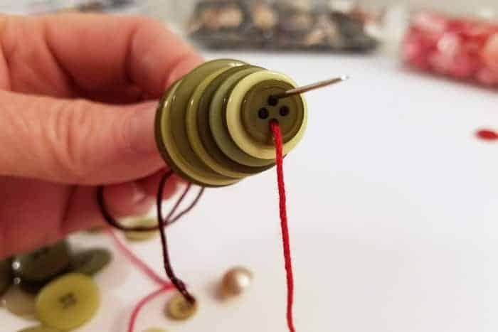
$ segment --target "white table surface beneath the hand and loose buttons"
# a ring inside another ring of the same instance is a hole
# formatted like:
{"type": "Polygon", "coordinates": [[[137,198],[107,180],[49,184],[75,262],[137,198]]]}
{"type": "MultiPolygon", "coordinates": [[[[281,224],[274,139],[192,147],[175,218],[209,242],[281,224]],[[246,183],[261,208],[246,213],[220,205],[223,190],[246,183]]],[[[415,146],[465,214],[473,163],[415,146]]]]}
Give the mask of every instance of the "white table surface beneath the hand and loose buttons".
{"type": "MultiPolygon", "coordinates": [[[[498,144],[473,136],[498,126],[498,92],[410,73],[381,55],[206,55],[302,84],[351,76],[307,95],[307,134],[285,160],[297,331],[498,331],[498,144]]],[[[171,323],[161,297],[136,331],[287,331],[275,171],[209,190],[168,232],[201,308],[171,323]],[[237,264],[253,270],[253,288],[222,304],[213,283],[237,264]]],[[[161,272],[158,240],[132,249],[161,272]]],[[[133,304],[157,289],[119,254],[97,282],[102,309],[78,331],[125,331],[133,304]]],[[[30,325],[4,310],[0,322],[1,331],[30,325]]]]}

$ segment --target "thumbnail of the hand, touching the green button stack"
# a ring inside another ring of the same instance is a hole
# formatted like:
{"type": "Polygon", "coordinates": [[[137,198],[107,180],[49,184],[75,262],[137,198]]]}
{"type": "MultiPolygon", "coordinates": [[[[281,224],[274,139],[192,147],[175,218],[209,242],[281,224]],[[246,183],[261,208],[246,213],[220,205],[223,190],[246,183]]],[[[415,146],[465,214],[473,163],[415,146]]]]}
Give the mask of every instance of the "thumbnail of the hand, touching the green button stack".
{"type": "Polygon", "coordinates": [[[155,103],[147,103],[146,107],[137,109],[130,123],[130,145],[140,154],[157,152],[154,136],[154,118],[156,116],[155,103]]]}

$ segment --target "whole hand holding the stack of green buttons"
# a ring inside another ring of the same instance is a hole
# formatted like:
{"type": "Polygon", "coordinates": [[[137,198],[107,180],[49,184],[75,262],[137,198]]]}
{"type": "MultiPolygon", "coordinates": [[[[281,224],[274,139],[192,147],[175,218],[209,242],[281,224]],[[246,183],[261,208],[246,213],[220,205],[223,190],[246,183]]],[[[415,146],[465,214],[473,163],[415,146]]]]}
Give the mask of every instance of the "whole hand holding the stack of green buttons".
{"type": "Polygon", "coordinates": [[[149,210],[157,100],[201,62],[146,18],[0,16],[0,259],[102,225],[100,185],[113,215],[149,210]]]}

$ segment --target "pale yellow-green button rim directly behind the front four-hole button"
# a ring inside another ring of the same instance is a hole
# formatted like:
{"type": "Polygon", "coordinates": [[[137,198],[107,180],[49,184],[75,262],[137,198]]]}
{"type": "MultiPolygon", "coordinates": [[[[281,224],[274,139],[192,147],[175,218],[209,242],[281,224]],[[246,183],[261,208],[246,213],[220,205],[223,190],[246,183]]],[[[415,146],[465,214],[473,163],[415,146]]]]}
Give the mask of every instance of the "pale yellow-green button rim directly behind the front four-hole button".
{"type": "MultiPolygon", "coordinates": [[[[245,100],[247,100],[248,92],[250,92],[250,90],[253,89],[253,87],[258,87],[258,89],[261,89],[261,87],[264,85],[260,84],[262,84],[263,82],[275,81],[275,80],[287,82],[292,87],[296,86],[295,82],[293,82],[289,77],[285,75],[270,71],[264,71],[260,73],[253,73],[243,78],[243,80],[240,80],[240,82],[238,82],[237,85],[235,85],[230,96],[228,97],[228,102],[226,106],[226,124],[228,127],[228,132],[230,132],[233,141],[240,149],[242,149],[243,151],[245,151],[245,153],[255,158],[275,159],[275,147],[272,146],[271,144],[268,144],[267,141],[265,143],[262,143],[259,139],[255,139],[245,129],[243,120],[241,121],[241,119],[243,119],[243,115],[241,114],[243,109],[243,103],[245,100]]],[[[265,95],[263,97],[269,97],[269,96],[265,95]]],[[[298,98],[296,103],[291,103],[287,105],[287,107],[289,107],[288,112],[287,111],[282,112],[282,114],[287,113],[286,116],[290,116],[290,112],[296,112],[297,119],[295,119],[294,121],[290,121],[289,124],[286,123],[285,134],[287,134],[287,136],[292,134],[292,130],[294,130],[293,128],[296,125],[299,126],[299,130],[297,131],[297,133],[295,133],[290,138],[287,137],[288,140],[283,146],[284,154],[287,154],[297,145],[297,143],[302,139],[302,136],[304,135],[304,131],[306,129],[307,105],[304,99],[300,95],[297,95],[296,97],[298,98]],[[299,105],[299,101],[301,102],[302,105],[299,105]],[[302,121],[299,121],[301,118],[302,121]]],[[[257,97],[253,96],[252,100],[253,102],[258,103],[258,100],[256,100],[256,98],[257,97]]],[[[268,112],[270,112],[269,109],[268,112]]],[[[275,115],[274,112],[272,112],[272,114],[275,115]]],[[[279,121],[280,119],[282,119],[282,121],[285,121],[283,120],[283,118],[285,118],[285,116],[277,117],[276,119],[278,119],[279,121]]],[[[266,119],[270,119],[270,114],[268,114],[268,117],[266,119]]],[[[269,124],[268,127],[270,127],[269,124]]]]}

